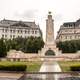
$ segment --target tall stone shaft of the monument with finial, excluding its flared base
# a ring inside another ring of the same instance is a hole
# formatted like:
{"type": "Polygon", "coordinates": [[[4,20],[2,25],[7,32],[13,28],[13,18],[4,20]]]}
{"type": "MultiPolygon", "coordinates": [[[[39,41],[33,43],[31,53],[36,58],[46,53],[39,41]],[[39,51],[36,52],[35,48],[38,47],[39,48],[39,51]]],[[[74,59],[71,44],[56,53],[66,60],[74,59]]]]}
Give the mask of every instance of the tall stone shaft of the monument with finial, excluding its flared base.
{"type": "Polygon", "coordinates": [[[48,13],[48,19],[46,20],[46,43],[53,44],[54,42],[54,23],[51,12],[48,13]]]}

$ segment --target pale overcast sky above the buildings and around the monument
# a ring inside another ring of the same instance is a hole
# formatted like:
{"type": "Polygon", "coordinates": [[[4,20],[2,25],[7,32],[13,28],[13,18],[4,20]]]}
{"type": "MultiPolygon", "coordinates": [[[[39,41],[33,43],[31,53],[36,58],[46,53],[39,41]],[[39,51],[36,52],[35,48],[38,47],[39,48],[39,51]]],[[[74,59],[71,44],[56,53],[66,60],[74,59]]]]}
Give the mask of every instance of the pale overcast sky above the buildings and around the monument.
{"type": "Polygon", "coordinates": [[[80,18],[80,0],[0,0],[0,20],[35,21],[44,38],[48,11],[53,15],[56,36],[62,23],[80,18]]]}

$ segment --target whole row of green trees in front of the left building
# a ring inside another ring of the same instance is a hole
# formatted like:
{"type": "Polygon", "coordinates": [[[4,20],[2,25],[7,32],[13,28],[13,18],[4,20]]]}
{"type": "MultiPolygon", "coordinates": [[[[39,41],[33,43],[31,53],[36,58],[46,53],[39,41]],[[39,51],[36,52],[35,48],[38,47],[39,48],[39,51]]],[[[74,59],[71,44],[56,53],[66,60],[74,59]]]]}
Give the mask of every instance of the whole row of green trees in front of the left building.
{"type": "MultiPolygon", "coordinates": [[[[0,40],[0,49],[3,50],[2,48],[4,46],[3,42],[0,40]]],[[[5,41],[5,46],[7,51],[10,49],[15,49],[15,50],[20,50],[25,53],[38,53],[38,50],[41,50],[41,48],[44,46],[44,41],[41,37],[28,37],[28,38],[15,38],[15,39],[9,39],[9,40],[4,40],[5,41]]],[[[5,47],[4,47],[5,48],[5,47]]],[[[4,51],[5,51],[4,50],[4,51]]],[[[2,53],[1,51],[0,53],[2,53]]]]}

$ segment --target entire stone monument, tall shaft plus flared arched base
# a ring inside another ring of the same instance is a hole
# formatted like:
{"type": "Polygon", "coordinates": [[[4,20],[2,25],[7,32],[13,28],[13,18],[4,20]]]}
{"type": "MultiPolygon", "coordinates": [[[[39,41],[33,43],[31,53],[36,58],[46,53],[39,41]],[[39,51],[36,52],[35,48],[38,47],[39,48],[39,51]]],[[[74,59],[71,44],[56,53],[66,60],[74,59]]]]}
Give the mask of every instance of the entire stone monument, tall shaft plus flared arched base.
{"type": "Polygon", "coordinates": [[[46,42],[40,54],[44,56],[46,51],[48,50],[53,51],[55,55],[59,54],[58,48],[56,47],[56,43],[54,40],[54,20],[52,19],[51,12],[48,13],[48,17],[46,20],[46,42]]]}

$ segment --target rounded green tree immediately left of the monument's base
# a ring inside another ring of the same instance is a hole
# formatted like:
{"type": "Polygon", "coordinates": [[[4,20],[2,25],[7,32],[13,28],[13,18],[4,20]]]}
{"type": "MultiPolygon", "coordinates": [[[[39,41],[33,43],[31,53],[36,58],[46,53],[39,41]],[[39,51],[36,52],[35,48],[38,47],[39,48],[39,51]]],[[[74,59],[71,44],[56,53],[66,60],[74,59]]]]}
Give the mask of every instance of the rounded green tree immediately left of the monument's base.
{"type": "Polygon", "coordinates": [[[28,53],[37,53],[43,46],[44,42],[41,37],[29,37],[22,50],[28,53]]]}

